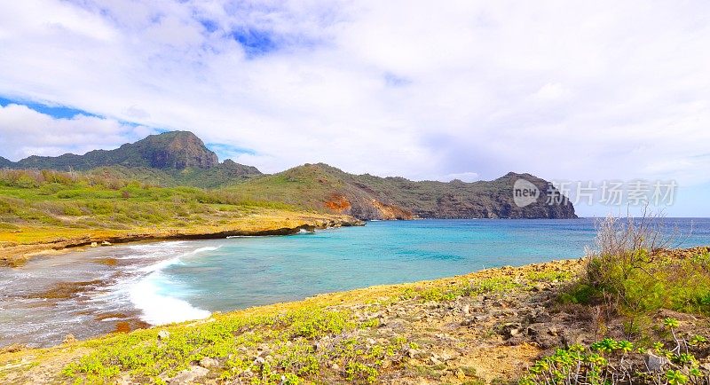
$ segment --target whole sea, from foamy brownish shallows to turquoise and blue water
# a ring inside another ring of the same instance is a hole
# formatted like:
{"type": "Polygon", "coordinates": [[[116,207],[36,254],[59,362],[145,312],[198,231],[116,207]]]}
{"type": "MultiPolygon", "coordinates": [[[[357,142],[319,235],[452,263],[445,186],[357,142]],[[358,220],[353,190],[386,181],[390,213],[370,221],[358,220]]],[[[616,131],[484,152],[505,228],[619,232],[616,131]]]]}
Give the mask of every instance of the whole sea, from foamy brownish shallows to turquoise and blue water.
{"type": "MultiPolygon", "coordinates": [[[[671,246],[710,245],[710,219],[665,219],[671,246]]],[[[503,265],[584,255],[595,221],[420,220],[369,222],[283,237],[185,240],[93,248],[0,269],[0,346],[47,345],[64,335],[110,332],[111,312],[157,325],[212,311],[301,299],[379,284],[436,279],[503,265]],[[98,263],[113,258],[117,263],[98,263]],[[99,279],[79,298],[42,307],[28,295],[99,279]]]]}

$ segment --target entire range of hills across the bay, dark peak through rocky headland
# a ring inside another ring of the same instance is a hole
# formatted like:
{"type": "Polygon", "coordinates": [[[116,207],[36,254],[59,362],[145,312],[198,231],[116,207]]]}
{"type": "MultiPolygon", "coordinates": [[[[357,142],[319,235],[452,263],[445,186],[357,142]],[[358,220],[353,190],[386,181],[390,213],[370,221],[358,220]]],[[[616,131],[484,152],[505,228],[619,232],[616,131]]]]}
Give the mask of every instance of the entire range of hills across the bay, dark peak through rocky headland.
{"type": "Polygon", "coordinates": [[[576,217],[572,203],[546,204],[545,193],[556,190],[548,181],[530,174],[509,173],[473,183],[416,182],[403,177],[352,175],[318,163],[264,175],[234,161],[219,163],[216,153],[186,131],[151,135],[114,150],[83,155],[30,156],[17,162],[0,158],[0,167],[75,169],[154,185],[224,188],[243,200],[283,202],[359,219],[576,217]],[[513,184],[519,178],[542,192],[537,201],[522,208],[513,201],[513,184]]]}

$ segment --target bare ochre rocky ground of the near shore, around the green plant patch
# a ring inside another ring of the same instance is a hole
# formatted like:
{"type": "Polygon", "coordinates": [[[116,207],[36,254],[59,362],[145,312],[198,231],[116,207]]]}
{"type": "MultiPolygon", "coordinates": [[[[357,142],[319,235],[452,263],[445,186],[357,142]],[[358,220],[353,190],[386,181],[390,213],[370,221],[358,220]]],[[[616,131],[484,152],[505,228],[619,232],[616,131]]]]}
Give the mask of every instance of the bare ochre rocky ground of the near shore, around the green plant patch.
{"type": "MultiPolygon", "coordinates": [[[[327,383],[367,382],[347,381],[342,377],[343,366],[328,358],[328,352],[343,341],[361,343],[361,348],[365,350],[377,350],[378,346],[390,346],[391,341],[402,338],[406,339],[406,343],[393,350],[393,355],[383,358],[378,370],[379,382],[414,384],[509,380],[517,377],[534,358],[556,343],[570,338],[586,338],[576,333],[579,328],[561,323],[558,318],[564,316],[555,316],[557,320],[553,321],[547,308],[556,290],[572,279],[581,266],[580,260],[568,260],[488,269],[446,279],[316,295],[295,303],[276,303],[215,314],[207,320],[138,330],[131,334],[111,334],[88,342],[69,340],[47,350],[6,348],[16,351],[0,352],[0,379],[12,383],[67,381],[62,380],[61,374],[65,365],[101,345],[114,343],[112,341],[122,338],[122,335],[136,334],[134,338],[140,340],[146,333],[155,334],[147,337],[149,339],[160,338],[157,335],[163,333],[177,338],[177,335],[197,331],[201,327],[231,325],[235,319],[288,319],[294,317],[292,314],[303,311],[308,313],[304,317],[311,317],[311,314],[322,311],[346,314],[347,319],[343,322],[354,326],[346,327],[342,333],[315,333],[317,335],[307,341],[308,346],[315,347],[312,353],[318,359],[332,361],[327,366],[321,365],[320,369],[319,375],[327,383]],[[464,286],[475,289],[464,293],[461,292],[464,286]]],[[[253,330],[251,326],[246,329],[241,327],[238,333],[272,335],[277,326],[265,329],[254,327],[253,330]]],[[[287,341],[272,341],[272,338],[268,337],[253,346],[247,344],[234,354],[258,365],[273,364],[284,354],[280,348],[284,343],[296,349],[296,345],[304,342],[297,335],[288,337],[287,341]]],[[[194,381],[217,384],[245,383],[256,376],[256,373],[247,370],[237,373],[236,381],[222,381],[219,373],[225,365],[228,365],[226,358],[207,357],[185,370],[163,373],[161,378],[170,384],[194,381]]],[[[125,374],[118,379],[118,383],[142,383],[144,380],[125,374]]]]}

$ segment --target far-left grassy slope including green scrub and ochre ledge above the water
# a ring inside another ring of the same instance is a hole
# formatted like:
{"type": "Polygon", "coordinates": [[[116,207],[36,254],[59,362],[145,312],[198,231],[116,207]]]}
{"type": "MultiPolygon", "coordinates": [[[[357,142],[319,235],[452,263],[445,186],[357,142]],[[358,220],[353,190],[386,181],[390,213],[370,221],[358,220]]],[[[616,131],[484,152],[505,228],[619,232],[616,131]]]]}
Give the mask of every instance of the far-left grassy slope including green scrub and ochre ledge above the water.
{"type": "Polygon", "coordinates": [[[304,212],[280,202],[221,190],[161,187],[97,173],[0,170],[0,247],[7,261],[34,248],[94,240],[268,232],[302,225],[351,223],[346,216],[304,212]]]}

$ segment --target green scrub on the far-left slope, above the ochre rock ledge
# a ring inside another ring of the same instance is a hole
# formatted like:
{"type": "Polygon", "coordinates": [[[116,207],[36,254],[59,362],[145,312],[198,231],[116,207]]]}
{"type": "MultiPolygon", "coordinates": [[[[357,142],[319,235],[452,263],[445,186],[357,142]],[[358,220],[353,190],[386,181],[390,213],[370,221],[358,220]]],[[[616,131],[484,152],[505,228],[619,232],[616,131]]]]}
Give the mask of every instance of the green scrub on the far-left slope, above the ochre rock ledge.
{"type": "Polygon", "coordinates": [[[120,229],[185,221],[230,209],[247,214],[249,208],[292,209],[282,203],[241,200],[219,190],[160,187],[95,174],[0,170],[0,218],[6,226],[82,227],[99,223],[120,229]]]}

